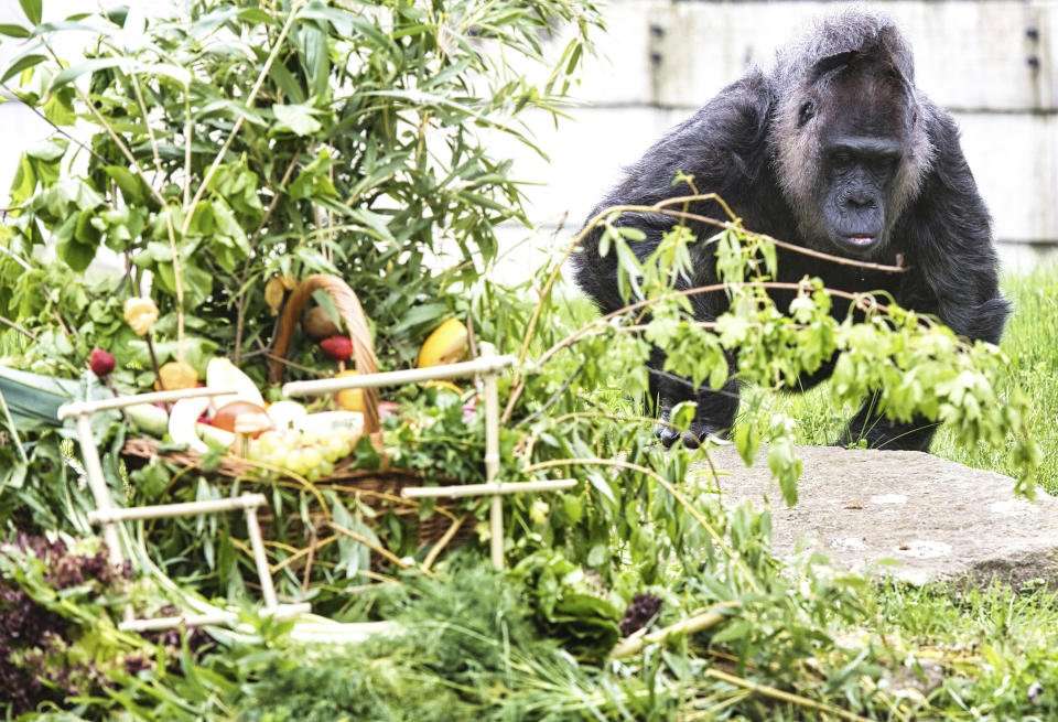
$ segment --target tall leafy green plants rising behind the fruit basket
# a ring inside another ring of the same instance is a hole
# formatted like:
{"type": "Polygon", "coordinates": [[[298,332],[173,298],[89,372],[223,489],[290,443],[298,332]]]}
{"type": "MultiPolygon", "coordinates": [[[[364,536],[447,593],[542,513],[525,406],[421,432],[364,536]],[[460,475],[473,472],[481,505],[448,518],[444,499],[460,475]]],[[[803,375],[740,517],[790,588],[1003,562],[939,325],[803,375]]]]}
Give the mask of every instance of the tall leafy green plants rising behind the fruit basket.
{"type": "Polygon", "coordinates": [[[8,334],[9,348],[78,366],[95,344],[149,368],[118,310],[152,279],[159,363],[186,356],[201,373],[214,352],[256,356],[260,379],[267,281],[330,272],[386,330],[384,366],[408,364],[496,256],[496,224],[526,220],[489,133],[531,144],[519,117],[557,112],[598,24],[592,3],[566,0],[196,0],[181,13],[142,36],[122,7],[4,26],[24,39],[4,82],[20,79],[55,134],[14,179],[0,314],[30,334],[57,316],[65,332],[32,349],[8,334]],[[552,23],[574,30],[555,61],[541,45],[552,23]],[[533,65],[538,80],[515,69],[533,65]],[[34,255],[48,239],[57,265],[34,255]],[[94,261],[123,276],[86,281],[94,261]]]}

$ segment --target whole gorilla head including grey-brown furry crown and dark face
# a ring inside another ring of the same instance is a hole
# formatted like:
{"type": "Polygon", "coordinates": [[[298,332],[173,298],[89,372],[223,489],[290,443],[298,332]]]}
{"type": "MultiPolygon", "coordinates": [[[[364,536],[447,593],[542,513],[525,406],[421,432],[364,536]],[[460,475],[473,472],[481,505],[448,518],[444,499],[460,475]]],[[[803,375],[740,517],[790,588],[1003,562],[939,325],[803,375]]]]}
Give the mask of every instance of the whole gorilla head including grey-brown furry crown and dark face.
{"type": "Polygon", "coordinates": [[[883,19],[821,23],[780,53],[769,139],[805,240],[872,258],[921,186],[931,147],[911,51],[883,19]]]}

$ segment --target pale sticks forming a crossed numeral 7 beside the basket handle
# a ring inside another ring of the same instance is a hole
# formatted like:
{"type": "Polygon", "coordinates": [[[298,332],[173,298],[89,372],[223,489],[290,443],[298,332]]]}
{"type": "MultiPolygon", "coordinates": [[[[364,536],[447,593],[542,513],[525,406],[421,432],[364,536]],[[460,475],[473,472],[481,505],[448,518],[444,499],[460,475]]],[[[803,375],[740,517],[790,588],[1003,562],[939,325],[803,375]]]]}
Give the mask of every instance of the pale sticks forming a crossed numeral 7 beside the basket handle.
{"type": "Polygon", "coordinates": [[[482,355],[474,360],[447,364],[445,366],[430,366],[427,368],[365,374],[363,376],[346,376],[343,378],[326,378],[315,381],[291,381],[283,385],[283,396],[311,396],[352,388],[376,388],[379,386],[399,386],[401,384],[418,384],[420,381],[482,376],[483,392],[485,396],[485,484],[409,486],[401,491],[401,496],[404,498],[490,496],[492,499],[488,509],[489,556],[492,557],[493,565],[496,567],[496,569],[503,569],[504,509],[500,497],[508,494],[566,489],[575,486],[577,482],[576,479],[564,478],[504,484],[499,481],[499,398],[496,388],[496,377],[515,364],[515,357],[497,355],[496,348],[489,343],[483,343],[481,345],[481,352],[482,355]]]}

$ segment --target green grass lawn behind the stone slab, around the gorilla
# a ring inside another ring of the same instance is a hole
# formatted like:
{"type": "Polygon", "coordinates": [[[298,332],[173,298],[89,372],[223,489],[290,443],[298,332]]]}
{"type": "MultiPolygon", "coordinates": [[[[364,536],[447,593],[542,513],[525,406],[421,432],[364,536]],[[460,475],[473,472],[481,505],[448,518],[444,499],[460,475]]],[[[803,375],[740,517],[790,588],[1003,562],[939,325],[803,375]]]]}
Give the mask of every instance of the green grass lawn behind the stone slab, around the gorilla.
{"type": "MultiPolygon", "coordinates": [[[[1058,268],[1037,269],[1029,276],[1008,276],[1003,291],[1014,305],[1001,347],[1010,357],[1010,375],[1001,394],[1021,386],[1034,401],[1028,427],[1043,450],[1037,482],[1058,494],[1058,268]]],[[[836,439],[842,424],[855,408],[842,408],[831,398],[827,384],[803,395],[775,394],[766,389],[745,389],[738,423],[767,427],[777,411],[789,413],[798,422],[798,442],[827,444],[836,439]]],[[[1013,474],[1010,444],[995,450],[985,445],[968,449],[956,443],[943,428],[937,433],[932,453],[943,459],[1013,474]]]]}

